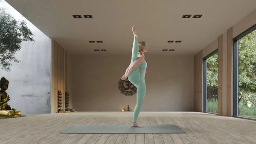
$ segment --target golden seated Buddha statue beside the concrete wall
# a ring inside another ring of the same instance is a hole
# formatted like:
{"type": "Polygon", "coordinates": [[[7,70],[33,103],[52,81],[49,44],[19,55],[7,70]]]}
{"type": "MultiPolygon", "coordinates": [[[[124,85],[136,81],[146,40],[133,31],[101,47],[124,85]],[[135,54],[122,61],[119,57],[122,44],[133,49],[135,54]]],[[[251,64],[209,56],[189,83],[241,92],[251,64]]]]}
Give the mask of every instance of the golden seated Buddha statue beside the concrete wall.
{"type": "Polygon", "coordinates": [[[11,109],[7,103],[11,99],[6,93],[8,86],[9,81],[5,77],[2,77],[2,79],[0,79],[0,117],[20,116],[21,112],[14,108],[11,109]]]}

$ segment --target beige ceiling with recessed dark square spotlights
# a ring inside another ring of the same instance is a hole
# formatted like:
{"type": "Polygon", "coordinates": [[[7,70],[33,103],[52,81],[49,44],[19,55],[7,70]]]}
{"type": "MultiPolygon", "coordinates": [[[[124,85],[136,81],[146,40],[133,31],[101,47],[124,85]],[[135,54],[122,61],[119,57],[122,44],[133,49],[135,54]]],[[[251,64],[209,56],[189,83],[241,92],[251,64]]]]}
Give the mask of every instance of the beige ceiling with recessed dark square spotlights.
{"type": "Polygon", "coordinates": [[[149,55],[195,55],[256,8],[256,0],[6,0],[68,52],[131,54],[133,25],[149,55]],[[182,18],[191,14],[191,18],[182,18]],[[192,18],[202,14],[201,18],[192,18]],[[92,19],[73,18],[92,15],[92,19]],[[90,43],[100,40],[103,43],[90,43]],[[181,40],[168,43],[168,40],[181,40]],[[94,51],[106,49],[106,51],[94,51]],[[175,49],[175,51],[162,51],[175,49]]]}

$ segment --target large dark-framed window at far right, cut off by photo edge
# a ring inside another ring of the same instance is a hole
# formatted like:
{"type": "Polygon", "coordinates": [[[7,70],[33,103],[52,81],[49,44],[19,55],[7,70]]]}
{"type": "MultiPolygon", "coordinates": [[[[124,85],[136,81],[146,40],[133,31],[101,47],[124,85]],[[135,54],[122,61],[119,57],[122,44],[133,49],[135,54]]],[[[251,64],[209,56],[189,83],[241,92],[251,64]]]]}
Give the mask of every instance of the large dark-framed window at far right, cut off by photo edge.
{"type": "Polygon", "coordinates": [[[233,41],[233,115],[256,119],[256,25],[233,41]]]}

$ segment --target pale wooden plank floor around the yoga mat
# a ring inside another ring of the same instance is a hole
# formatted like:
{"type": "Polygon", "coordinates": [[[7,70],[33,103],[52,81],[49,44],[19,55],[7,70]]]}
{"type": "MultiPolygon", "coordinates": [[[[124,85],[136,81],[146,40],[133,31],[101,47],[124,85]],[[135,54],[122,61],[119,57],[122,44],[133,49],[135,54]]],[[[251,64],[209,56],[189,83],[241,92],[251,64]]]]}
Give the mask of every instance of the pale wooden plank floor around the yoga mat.
{"type": "Polygon", "coordinates": [[[196,112],[141,112],[140,124],[182,134],[61,134],[72,124],[131,124],[133,112],[55,113],[0,119],[0,144],[256,144],[256,121],[196,112]]]}

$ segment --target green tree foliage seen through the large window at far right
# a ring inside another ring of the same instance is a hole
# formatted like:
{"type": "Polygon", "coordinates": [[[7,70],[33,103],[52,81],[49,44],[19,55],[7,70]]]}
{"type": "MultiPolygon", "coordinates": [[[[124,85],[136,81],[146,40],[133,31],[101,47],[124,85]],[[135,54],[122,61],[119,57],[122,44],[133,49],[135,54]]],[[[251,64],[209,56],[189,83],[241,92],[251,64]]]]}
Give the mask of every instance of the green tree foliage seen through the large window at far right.
{"type": "Polygon", "coordinates": [[[256,31],[239,40],[239,98],[256,106],[256,31]]]}

